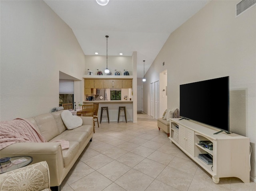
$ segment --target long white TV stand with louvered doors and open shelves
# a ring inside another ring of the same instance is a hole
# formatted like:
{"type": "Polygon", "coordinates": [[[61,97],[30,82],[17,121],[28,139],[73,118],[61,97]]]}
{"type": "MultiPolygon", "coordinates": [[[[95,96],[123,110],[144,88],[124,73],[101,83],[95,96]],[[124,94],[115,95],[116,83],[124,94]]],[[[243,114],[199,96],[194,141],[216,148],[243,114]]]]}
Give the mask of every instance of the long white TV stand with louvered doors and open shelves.
{"type": "Polygon", "coordinates": [[[250,182],[250,138],[234,133],[214,134],[219,129],[193,120],[179,119],[170,118],[170,142],[212,175],[214,183],[219,183],[221,177],[238,177],[244,183],[250,182]],[[198,145],[206,140],[213,143],[213,150],[198,145]],[[198,154],[204,153],[213,156],[211,165],[198,158],[198,154]]]}

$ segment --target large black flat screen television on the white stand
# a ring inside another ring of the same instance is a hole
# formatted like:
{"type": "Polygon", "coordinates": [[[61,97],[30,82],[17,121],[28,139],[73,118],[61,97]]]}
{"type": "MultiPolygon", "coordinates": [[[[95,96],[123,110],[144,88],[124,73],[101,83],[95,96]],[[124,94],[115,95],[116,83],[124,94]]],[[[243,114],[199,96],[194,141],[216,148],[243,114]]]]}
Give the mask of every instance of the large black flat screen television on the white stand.
{"type": "Polygon", "coordinates": [[[229,133],[229,77],[180,85],[180,116],[229,133]]]}

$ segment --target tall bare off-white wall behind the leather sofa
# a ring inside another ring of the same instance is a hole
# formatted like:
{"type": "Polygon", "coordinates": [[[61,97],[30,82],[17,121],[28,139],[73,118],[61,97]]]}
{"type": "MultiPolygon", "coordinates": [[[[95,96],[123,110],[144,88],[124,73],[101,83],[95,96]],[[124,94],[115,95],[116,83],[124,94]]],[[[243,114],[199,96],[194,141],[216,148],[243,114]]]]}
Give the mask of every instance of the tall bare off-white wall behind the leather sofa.
{"type": "MultiPolygon", "coordinates": [[[[44,1],[0,3],[1,120],[50,112],[58,106],[59,71],[82,80],[84,53],[69,26],[44,1]]],[[[77,96],[82,91],[78,83],[77,96]]]]}

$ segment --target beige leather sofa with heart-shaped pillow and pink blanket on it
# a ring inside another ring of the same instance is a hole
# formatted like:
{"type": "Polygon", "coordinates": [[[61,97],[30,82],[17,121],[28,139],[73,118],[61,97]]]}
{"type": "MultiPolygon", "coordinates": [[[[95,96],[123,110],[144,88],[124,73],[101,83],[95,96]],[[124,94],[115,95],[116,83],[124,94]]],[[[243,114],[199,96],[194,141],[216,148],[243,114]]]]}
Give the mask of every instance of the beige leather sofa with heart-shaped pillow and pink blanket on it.
{"type": "Polygon", "coordinates": [[[19,142],[0,151],[1,158],[26,155],[33,157],[32,163],[46,161],[50,169],[50,186],[56,190],[60,190],[63,179],[93,135],[93,117],[81,116],[82,126],[68,130],[61,118],[62,111],[64,110],[27,119],[47,142],[19,142]],[[55,140],[68,141],[69,148],[62,150],[59,142],[53,142],[55,140]]]}

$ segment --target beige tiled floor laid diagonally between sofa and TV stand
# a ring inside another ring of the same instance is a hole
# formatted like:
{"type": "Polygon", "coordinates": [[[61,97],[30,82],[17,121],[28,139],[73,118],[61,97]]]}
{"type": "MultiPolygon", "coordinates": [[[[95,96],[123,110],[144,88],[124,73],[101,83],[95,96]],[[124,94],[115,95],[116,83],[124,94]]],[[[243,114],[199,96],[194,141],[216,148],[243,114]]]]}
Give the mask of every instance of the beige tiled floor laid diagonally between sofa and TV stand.
{"type": "Polygon", "coordinates": [[[158,130],[147,114],[138,122],[103,122],[95,128],[62,191],[255,191],[256,183],[211,176],[158,130]]]}

